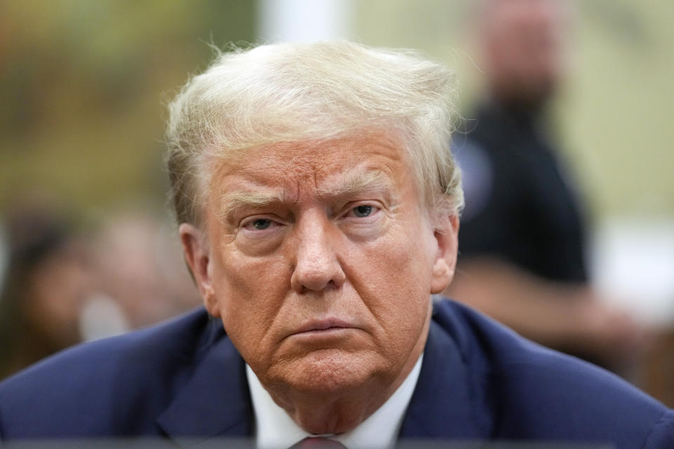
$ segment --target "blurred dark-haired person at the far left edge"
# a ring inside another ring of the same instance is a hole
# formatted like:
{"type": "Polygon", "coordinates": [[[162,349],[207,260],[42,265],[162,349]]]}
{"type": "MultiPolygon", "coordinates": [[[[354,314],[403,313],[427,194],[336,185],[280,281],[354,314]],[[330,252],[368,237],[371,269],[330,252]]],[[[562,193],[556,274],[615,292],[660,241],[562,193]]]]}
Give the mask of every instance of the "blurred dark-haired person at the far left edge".
{"type": "Polygon", "coordinates": [[[6,215],[0,288],[0,378],[81,340],[81,307],[93,289],[91,254],[43,206],[6,215]]]}

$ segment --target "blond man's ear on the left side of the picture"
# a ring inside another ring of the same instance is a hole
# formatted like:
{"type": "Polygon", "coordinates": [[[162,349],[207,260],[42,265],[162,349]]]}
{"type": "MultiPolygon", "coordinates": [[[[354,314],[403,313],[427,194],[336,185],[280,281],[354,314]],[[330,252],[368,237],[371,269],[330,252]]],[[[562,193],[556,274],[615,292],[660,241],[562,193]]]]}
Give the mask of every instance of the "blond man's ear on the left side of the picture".
{"type": "Polygon", "coordinates": [[[201,229],[183,223],[178,227],[180,241],[183,243],[185,262],[190,267],[194,283],[197,284],[204,306],[211,316],[218,317],[218,300],[216,299],[213,281],[211,279],[211,248],[209,241],[201,229]]]}

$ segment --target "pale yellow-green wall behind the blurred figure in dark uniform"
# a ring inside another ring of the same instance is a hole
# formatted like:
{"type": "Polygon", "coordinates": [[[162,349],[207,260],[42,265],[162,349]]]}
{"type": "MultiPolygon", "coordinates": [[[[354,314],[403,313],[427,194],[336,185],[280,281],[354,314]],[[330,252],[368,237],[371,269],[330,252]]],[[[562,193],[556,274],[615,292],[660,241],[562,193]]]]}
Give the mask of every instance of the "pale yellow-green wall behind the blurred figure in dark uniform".
{"type": "MultiPolygon", "coordinates": [[[[355,35],[422,48],[456,67],[462,105],[479,90],[470,1],[357,2],[355,35]]],[[[674,6],[576,2],[571,76],[559,108],[569,157],[597,216],[674,214],[674,6]]]]}

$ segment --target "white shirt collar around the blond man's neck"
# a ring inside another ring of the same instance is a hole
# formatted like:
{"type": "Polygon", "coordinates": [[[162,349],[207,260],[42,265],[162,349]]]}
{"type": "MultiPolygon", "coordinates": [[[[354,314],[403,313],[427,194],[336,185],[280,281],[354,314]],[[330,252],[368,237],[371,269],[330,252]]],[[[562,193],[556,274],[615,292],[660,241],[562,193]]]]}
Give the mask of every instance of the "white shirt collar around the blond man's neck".
{"type": "MultiPolygon", "coordinates": [[[[404,382],[372,415],[352,431],[331,438],[347,448],[392,448],[395,445],[405,410],[414,393],[422,359],[423,354],[419,356],[404,382]]],[[[247,364],[246,377],[251,390],[253,410],[255,410],[258,448],[289,448],[303,438],[315,436],[301,429],[285,410],[277,406],[247,364]]]]}

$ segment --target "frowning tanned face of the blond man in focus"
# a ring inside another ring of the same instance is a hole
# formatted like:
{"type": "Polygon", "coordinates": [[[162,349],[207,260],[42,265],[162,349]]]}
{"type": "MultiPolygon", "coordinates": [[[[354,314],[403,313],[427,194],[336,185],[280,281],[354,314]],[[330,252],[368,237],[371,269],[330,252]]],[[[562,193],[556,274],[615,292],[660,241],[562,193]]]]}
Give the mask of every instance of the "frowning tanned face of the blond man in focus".
{"type": "Polygon", "coordinates": [[[456,220],[435,232],[402,149],[376,133],[282,143],[211,173],[192,269],[265,387],[333,394],[407,375],[453,273],[456,220]]]}

